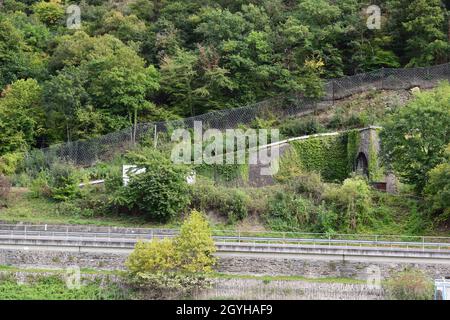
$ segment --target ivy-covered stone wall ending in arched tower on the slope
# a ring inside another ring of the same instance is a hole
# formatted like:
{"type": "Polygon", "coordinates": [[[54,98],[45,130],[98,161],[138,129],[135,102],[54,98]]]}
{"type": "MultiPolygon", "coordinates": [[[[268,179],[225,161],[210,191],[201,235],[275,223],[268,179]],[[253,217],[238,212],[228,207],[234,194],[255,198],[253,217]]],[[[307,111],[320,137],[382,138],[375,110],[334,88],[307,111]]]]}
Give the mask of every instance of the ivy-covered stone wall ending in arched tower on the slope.
{"type": "MultiPolygon", "coordinates": [[[[356,159],[361,152],[368,160],[369,180],[381,181],[384,177],[383,168],[378,161],[378,130],[372,128],[291,141],[289,146],[282,147],[285,152],[280,152],[279,171],[275,176],[278,182],[287,182],[304,171],[319,172],[325,181],[341,182],[355,171],[356,159]]],[[[195,166],[195,171],[219,184],[267,184],[260,183],[258,177],[250,174],[249,164],[202,164],[195,166]]]]}

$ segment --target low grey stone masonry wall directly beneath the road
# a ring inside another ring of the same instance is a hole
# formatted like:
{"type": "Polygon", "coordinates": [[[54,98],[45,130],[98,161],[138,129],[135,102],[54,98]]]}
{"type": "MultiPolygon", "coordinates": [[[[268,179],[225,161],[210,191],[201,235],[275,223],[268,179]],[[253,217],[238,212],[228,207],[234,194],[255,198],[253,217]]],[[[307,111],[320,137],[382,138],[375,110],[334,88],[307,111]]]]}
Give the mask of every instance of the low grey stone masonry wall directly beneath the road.
{"type": "MultiPolygon", "coordinates": [[[[23,268],[78,266],[103,270],[124,269],[127,254],[0,249],[0,265],[23,268]]],[[[254,275],[296,275],[309,278],[348,277],[366,279],[368,267],[379,267],[382,277],[407,267],[424,270],[433,278],[450,276],[450,264],[381,263],[301,258],[219,256],[217,271],[254,275]]]]}

